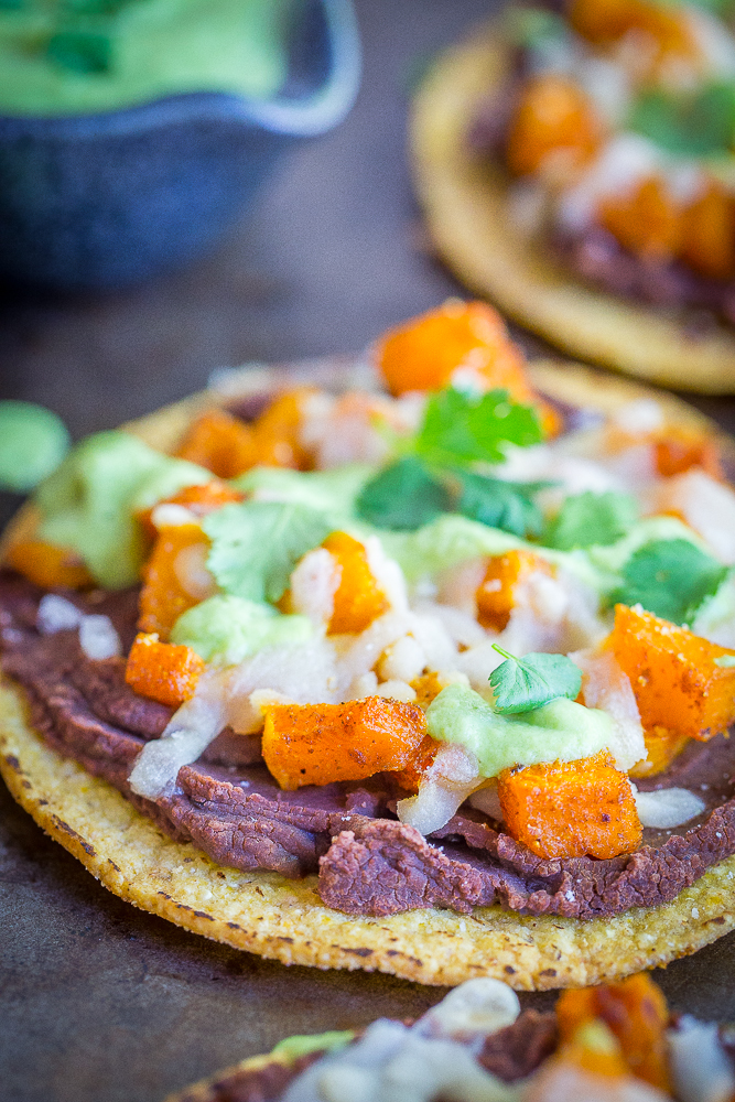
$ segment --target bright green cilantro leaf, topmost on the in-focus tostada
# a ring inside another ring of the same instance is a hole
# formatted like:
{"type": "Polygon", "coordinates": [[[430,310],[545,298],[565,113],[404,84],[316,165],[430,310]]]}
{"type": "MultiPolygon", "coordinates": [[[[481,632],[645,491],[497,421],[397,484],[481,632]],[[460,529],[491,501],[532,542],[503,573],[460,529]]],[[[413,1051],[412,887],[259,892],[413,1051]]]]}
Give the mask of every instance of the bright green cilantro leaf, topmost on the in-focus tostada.
{"type": "Polygon", "coordinates": [[[447,387],[429,399],[413,451],[440,466],[501,463],[502,444],[528,447],[541,439],[536,411],[512,402],[507,390],[474,395],[447,387]]]}

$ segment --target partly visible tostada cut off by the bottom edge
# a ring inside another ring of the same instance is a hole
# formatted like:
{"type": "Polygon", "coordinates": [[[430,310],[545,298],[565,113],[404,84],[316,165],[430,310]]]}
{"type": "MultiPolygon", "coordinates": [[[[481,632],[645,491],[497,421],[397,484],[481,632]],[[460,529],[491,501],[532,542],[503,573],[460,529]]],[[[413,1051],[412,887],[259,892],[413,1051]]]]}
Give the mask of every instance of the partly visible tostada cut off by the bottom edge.
{"type": "Polygon", "coordinates": [[[289,1037],[167,1102],[727,1102],[731,1027],[671,1015],[646,973],[521,1012],[467,980],[417,1022],[289,1037]]]}

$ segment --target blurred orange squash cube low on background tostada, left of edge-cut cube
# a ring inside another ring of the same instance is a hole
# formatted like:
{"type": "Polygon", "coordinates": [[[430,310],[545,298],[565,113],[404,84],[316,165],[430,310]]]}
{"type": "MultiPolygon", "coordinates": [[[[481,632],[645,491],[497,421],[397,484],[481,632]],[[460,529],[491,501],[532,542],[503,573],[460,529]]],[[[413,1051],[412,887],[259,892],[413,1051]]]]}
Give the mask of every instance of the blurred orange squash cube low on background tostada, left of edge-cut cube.
{"type": "Polygon", "coordinates": [[[627,195],[603,199],[598,217],[625,249],[646,260],[668,260],[679,251],[682,216],[656,176],[627,195]]]}

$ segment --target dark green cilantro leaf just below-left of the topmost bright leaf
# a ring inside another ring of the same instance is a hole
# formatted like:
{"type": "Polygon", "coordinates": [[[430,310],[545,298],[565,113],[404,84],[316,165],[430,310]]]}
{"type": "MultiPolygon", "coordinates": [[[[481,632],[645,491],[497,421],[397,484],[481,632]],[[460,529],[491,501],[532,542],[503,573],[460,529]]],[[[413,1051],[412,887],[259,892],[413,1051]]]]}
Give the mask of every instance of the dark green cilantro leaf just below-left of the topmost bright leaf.
{"type": "Polygon", "coordinates": [[[363,487],[357,516],[377,528],[413,531],[446,512],[452,505],[446,487],[413,455],[380,471],[363,487]]]}

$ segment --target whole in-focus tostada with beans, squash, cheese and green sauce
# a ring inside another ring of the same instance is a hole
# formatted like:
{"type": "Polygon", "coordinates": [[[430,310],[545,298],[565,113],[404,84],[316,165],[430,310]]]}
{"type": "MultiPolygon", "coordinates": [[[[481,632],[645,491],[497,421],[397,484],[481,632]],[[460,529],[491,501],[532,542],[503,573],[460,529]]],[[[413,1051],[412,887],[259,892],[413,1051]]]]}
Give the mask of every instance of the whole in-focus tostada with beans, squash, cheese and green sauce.
{"type": "Polygon", "coordinates": [[[734,449],[450,300],[83,441],[7,533],[2,771],[111,890],[519,988],[735,925],[734,449]],[[268,385],[266,385],[268,383],[268,385]]]}

